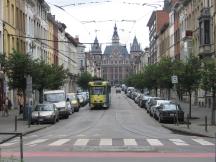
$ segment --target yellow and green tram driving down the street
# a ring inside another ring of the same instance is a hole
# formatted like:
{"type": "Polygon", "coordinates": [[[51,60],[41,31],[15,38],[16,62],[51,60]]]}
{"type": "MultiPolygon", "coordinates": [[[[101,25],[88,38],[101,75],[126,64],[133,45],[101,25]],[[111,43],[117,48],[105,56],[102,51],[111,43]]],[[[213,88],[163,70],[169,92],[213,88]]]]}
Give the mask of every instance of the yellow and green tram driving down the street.
{"type": "Polygon", "coordinates": [[[110,83],[108,81],[92,81],[88,85],[90,108],[109,108],[111,104],[110,83]]]}

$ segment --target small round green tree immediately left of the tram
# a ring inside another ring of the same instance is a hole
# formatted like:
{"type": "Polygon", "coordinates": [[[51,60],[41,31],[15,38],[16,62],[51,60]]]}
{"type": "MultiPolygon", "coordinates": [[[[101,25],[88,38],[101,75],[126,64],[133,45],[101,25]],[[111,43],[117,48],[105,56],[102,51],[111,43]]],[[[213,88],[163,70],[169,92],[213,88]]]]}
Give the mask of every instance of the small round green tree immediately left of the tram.
{"type": "Polygon", "coordinates": [[[83,72],[77,80],[77,84],[83,89],[88,89],[88,82],[92,80],[91,74],[88,72],[83,72]]]}

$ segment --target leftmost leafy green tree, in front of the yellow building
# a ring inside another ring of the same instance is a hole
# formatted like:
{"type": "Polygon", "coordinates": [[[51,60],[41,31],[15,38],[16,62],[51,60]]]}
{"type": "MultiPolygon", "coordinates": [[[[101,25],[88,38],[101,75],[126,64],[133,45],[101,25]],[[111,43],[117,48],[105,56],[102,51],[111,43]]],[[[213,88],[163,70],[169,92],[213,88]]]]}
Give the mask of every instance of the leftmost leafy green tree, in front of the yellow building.
{"type": "Polygon", "coordinates": [[[29,55],[13,51],[6,59],[5,70],[10,89],[16,89],[18,95],[23,95],[26,104],[26,77],[32,73],[32,59],[29,55]]]}

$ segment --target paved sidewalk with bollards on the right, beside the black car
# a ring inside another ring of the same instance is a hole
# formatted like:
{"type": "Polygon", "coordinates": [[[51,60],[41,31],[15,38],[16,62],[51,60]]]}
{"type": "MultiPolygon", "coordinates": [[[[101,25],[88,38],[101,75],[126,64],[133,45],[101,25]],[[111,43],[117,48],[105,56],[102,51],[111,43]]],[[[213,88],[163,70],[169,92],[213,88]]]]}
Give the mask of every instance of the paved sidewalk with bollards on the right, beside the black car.
{"type": "Polygon", "coordinates": [[[162,124],[163,127],[174,132],[196,135],[203,137],[215,137],[216,126],[211,125],[211,108],[199,107],[192,105],[191,116],[189,119],[189,128],[187,127],[187,114],[189,113],[189,103],[180,102],[180,105],[185,112],[184,124],[162,124]],[[207,117],[207,131],[205,131],[205,116],[207,117]]]}

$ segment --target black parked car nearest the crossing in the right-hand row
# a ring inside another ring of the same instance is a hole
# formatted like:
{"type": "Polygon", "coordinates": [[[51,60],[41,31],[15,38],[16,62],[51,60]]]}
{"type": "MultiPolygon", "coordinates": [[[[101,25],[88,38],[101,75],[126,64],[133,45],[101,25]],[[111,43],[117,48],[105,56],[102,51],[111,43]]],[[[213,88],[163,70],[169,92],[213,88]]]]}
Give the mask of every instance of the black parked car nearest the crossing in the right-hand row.
{"type": "Polygon", "coordinates": [[[184,122],[184,111],[176,103],[161,104],[155,115],[160,123],[165,121],[174,122],[177,118],[179,122],[184,122]]]}

